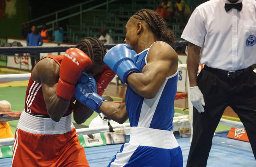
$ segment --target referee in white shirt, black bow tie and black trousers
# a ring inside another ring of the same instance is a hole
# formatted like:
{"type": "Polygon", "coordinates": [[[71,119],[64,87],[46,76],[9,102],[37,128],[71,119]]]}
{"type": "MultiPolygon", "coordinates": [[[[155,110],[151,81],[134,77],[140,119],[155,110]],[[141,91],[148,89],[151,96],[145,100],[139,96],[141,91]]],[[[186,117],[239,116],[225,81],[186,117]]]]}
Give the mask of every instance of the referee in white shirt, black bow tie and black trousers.
{"type": "MultiPolygon", "coordinates": [[[[189,41],[193,138],[187,167],[204,167],[220,118],[230,106],[243,122],[256,157],[256,1],[210,0],[192,13],[189,41]],[[199,62],[205,64],[197,77],[199,62]]],[[[220,157],[221,158],[221,157],[220,157]]]]}

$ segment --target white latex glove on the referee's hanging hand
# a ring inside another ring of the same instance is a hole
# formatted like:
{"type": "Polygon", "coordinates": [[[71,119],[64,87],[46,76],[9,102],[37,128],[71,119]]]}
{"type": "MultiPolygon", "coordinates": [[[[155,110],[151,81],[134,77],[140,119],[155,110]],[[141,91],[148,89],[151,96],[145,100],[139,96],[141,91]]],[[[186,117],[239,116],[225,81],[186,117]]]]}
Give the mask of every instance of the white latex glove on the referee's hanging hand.
{"type": "Polygon", "coordinates": [[[190,101],[193,106],[198,110],[198,112],[205,112],[203,106],[205,106],[205,100],[203,99],[203,94],[198,86],[189,87],[190,89],[190,101]]]}

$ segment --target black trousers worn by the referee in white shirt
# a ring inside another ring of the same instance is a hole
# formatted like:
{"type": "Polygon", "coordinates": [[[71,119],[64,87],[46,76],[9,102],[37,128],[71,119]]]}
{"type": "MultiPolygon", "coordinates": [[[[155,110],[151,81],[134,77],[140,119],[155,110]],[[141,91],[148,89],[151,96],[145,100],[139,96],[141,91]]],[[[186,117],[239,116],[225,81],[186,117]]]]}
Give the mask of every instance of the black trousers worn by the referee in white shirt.
{"type": "Polygon", "coordinates": [[[193,108],[193,138],[187,167],[206,166],[212,137],[227,106],[237,113],[244,124],[256,158],[256,73],[253,69],[236,78],[229,78],[203,68],[197,81],[206,105],[202,113],[193,108]]]}

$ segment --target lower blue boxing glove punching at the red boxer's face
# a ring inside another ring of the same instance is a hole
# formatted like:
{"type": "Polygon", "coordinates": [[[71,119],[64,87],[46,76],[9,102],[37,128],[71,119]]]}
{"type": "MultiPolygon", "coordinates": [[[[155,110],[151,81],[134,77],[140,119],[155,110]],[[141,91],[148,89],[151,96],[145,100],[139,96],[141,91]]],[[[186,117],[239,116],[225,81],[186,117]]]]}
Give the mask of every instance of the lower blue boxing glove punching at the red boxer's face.
{"type": "Polygon", "coordinates": [[[103,101],[107,101],[97,93],[96,81],[92,76],[82,73],[78,79],[74,97],[87,107],[100,113],[99,107],[103,101]]]}

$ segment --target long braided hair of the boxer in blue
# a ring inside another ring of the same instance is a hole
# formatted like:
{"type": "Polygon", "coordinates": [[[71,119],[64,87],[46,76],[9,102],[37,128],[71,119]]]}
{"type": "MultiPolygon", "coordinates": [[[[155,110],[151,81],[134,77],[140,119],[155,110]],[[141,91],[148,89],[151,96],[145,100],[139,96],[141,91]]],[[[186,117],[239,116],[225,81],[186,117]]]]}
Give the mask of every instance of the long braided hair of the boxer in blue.
{"type": "Polygon", "coordinates": [[[150,9],[141,9],[140,11],[134,13],[131,18],[144,21],[148,24],[150,30],[155,36],[161,41],[164,41],[170,45],[174,42],[174,34],[169,29],[161,16],[150,9]]]}

